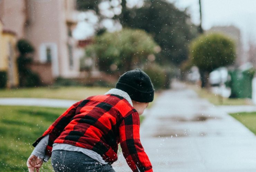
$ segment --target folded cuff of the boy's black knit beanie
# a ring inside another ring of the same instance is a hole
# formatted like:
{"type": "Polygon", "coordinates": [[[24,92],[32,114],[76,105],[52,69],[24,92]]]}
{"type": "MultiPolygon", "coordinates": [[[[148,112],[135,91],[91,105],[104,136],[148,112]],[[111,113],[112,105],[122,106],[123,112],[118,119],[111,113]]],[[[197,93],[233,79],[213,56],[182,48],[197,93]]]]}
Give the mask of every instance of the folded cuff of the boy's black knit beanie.
{"type": "Polygon", "coordinates": [[[132,100],[135,100],[138,102],[148,103],[148,102],[152,102],[154,99],[154,92],[155,92],[154,89],[150,92],[143,92],[128,84],[120,83],[120,82],[116,84],[116,88],[123,90],[130,96],[132,100]]]}

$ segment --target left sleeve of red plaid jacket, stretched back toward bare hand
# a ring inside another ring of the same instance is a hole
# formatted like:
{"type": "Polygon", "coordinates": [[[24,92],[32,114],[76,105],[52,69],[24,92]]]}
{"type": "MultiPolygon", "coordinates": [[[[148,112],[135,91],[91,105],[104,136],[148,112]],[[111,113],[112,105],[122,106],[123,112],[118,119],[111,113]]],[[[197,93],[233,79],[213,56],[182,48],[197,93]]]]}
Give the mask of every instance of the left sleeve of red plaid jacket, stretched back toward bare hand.
{"type": "Polygon", "coordinates": [[[46,147],[46,155],[51,157],[54,140],[58,136],[60,136],[61,132],[64,130],[67,124],[71,121],[71,119],[75,116],[77,107],[79,107],[80,104],[82,104],[82,100],[73,104],[70,108],[68,108],[60,117],[58,117],[53,122],[53,124],[43,133],[43,135],[33,143],[33,146],[36,147],[39,141],[42,140],[44,136],[49,134],[48,145],[46,147]]]}

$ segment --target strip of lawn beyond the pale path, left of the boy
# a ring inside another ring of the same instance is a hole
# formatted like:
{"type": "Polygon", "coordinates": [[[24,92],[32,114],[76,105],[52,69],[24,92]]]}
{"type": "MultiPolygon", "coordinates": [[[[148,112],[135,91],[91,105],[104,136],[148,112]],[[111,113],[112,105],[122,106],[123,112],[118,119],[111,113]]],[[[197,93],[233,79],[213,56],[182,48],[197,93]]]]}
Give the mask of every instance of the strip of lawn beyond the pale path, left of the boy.
{"type": "Polygon", "coordinates": [[[81,100],[89,96],[104,94],[106,87],[37,87],[0,89],[0,97],[55,98],[81,100]]]}

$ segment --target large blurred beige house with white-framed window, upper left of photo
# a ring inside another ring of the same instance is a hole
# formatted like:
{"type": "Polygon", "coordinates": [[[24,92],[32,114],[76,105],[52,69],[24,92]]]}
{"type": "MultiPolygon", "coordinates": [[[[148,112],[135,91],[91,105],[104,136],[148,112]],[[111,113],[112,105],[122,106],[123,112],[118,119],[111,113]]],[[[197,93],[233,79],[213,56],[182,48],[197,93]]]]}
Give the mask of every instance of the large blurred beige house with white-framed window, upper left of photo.
{"type": "Polygon", "coordinates": [[[80,76],[77,41],[72,38],[77,13],[76,0],[0,0],[0,18],[17,39],[28,40],[35,48],[30,66],[43,83],[57,77],[80,76]]]}

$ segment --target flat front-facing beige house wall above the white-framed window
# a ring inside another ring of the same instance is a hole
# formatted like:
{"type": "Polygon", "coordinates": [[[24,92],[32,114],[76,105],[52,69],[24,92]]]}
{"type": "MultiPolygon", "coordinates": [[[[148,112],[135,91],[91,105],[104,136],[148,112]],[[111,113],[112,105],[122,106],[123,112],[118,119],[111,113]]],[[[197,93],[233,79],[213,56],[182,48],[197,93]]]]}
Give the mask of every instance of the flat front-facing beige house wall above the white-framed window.
{"type": "Polygon", "coordinates": [[[26,28],[26,39],[35,47],[34,62],[45,63],[42,52],[46,51],[45,46],[54,46],[55,58],[52,59],[54,69],[51,69],[55,76],[58,76],[60,56],[58,56],[59,40],[63,34],[60,31],[59,4],[58,0],[29,0],[29,25],[26,28]],[[54,72],[55,71],[55,72],[54,72]]]}

